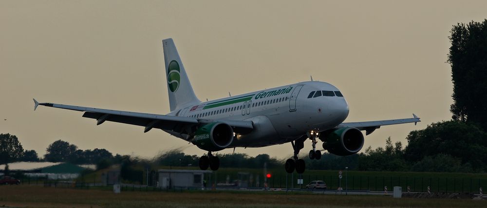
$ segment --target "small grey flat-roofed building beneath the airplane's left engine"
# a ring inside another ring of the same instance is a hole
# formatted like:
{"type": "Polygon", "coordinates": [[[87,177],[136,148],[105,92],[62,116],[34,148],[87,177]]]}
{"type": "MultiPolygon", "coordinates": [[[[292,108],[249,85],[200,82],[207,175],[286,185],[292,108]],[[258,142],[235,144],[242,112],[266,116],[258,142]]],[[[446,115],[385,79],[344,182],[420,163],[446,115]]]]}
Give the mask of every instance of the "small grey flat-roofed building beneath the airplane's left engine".
{"type": "Polygon", "coordinates": [[[158,185],[162,189],[203,188],[205,173],[211,170],[157,170],[158,185]]]}

